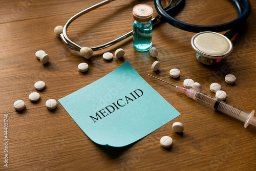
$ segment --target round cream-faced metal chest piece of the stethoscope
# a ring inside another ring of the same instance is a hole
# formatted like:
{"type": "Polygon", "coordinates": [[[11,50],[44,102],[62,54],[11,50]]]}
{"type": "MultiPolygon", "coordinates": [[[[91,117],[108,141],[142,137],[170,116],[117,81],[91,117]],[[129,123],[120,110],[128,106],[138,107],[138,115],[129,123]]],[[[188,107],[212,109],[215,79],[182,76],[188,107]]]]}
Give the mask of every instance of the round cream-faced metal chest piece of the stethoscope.
{"type": "Polygon", "coordinates": [[[210,31],[194,35],[191,46],[197,53],[197,59],[205,65],[216,65],[233,49],[232,42],[226,36],[210,31]]]}

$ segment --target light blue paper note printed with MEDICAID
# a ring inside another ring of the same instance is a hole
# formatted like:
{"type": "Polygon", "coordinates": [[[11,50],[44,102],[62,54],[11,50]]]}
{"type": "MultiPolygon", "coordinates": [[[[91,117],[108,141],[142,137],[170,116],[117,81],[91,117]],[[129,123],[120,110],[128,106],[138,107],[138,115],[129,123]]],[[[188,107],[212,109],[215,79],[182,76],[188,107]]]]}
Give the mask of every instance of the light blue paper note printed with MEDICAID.
{"type": "Polygon", "coordinates": [[[128,61],[58,101],[92,141],[114,147],[129,145],[180,115],[128,61]]]}

